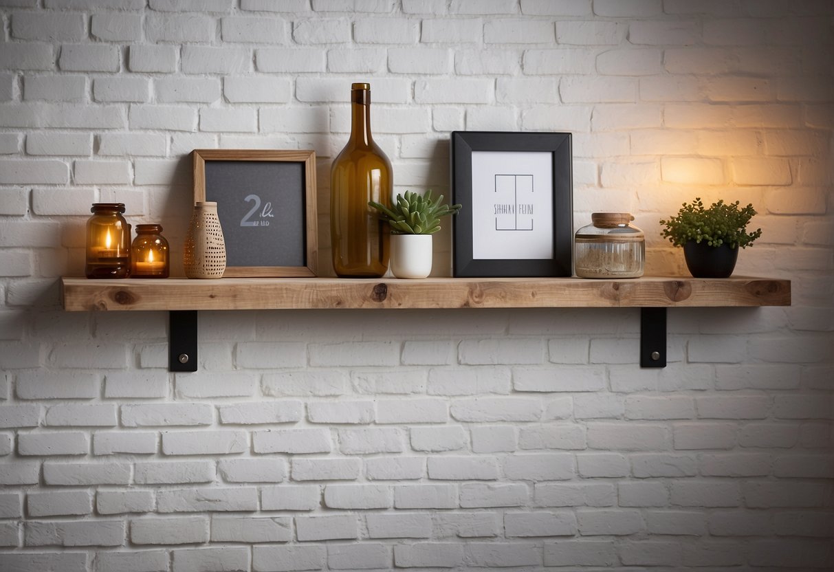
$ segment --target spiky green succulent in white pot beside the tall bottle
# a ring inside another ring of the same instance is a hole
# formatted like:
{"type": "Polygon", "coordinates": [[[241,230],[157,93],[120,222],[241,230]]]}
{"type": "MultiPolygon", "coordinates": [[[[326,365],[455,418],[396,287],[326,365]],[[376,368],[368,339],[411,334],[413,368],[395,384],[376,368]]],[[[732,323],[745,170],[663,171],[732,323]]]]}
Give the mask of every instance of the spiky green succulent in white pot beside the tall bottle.
{"type": "Polygon", "coordinates": [[[436,200],[431,191],[425,195],[405,191],[398,194],[391,208],[369,201],[380,213],[379,218],[391,229],[391,272],[397,278],[425,278],[431,273],[431,235],[440,230],[440,218],[455,214],[460,204],[436,200]]]}

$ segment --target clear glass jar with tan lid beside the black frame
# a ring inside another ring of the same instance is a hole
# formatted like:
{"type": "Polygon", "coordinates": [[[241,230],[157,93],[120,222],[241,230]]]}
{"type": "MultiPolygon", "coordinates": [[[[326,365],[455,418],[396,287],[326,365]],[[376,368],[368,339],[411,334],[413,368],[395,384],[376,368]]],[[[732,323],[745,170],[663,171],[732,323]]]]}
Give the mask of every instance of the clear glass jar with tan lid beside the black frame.
{"type": "Polygon", "coordinates": [[[593,213],[576,231],[574,269],[580,278],[638,278],[646,262],[646,236],[630,213],[593,213]]]}

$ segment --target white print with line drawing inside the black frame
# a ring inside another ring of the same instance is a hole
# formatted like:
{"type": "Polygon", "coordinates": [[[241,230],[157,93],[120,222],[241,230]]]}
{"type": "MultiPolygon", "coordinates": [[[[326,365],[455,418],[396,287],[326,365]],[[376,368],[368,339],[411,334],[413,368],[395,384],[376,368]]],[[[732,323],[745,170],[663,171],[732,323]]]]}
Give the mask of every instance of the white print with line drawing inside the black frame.
{"type": "Polygon", "coordinates": [[[472,258],[553,258],[553,153],[472,152],[472,258]]]}

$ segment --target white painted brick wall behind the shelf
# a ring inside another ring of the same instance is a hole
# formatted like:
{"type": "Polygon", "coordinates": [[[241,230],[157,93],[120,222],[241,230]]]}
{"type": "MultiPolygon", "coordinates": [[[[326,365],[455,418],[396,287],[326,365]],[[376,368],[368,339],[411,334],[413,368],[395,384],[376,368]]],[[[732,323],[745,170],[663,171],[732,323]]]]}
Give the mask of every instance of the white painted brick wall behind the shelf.
{"type": "Polygon", "coordinates": [[[834,567],[831,0],[0,4],[3,572],[834,567]],[[365,80],[398,188],[570,131],[575,226],[676,275],[660,218],[752,202],[791,307],[672,309],[662,370],[631,310],[203,313],[177,375],[164,313],[63,312],[90,203],[182,248],[193,148],[313,148],[329,273],[365,80]]]}

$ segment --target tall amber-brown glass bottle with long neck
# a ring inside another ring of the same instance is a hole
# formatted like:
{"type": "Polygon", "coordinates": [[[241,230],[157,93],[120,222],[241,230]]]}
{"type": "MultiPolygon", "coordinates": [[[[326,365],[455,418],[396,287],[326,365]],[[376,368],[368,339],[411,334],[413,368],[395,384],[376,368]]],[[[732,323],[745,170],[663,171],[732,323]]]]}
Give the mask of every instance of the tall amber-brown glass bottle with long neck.
{"type": "Polygon", "coordinates": [[[333,268],[343,278],[388,271],[389,228],[368,201],[391,204],[391,162],[370,133],[370,84],[350,86],[350,139],[330,171],[333,268]]]}

